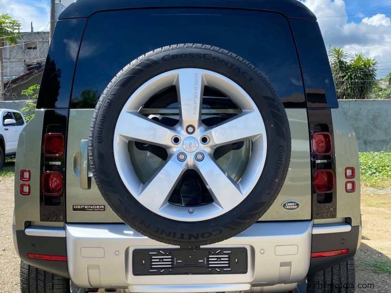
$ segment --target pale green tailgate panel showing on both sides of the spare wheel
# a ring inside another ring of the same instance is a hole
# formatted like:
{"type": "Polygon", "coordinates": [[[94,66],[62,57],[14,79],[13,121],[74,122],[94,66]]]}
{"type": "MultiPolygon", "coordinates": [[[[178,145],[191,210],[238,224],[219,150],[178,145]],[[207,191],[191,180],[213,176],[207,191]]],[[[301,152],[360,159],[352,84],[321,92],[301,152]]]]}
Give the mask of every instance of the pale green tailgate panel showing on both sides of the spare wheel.
{"type": "MultiPolygon", "coordinates": [[[[311,218],[311,168],[309,160],[308,122],[305,109],[286,109],[292,137],[292,154],[282,190],[261,221],[308,220],[311,218]],[[297,201],[300,208],[286,210],[285,201],[297,201]]],[[[80,142],[87,139],[93,110],[71,109],[69,115],[66,169],[67,222],[122,222],[109,208],[94,181],[90,189],[80,188],[80,142]],[[73,166],[73,167],[72,167],[73,166]],[[105,211],[77,211],[74,205],[105,205],[105,211]]]]}

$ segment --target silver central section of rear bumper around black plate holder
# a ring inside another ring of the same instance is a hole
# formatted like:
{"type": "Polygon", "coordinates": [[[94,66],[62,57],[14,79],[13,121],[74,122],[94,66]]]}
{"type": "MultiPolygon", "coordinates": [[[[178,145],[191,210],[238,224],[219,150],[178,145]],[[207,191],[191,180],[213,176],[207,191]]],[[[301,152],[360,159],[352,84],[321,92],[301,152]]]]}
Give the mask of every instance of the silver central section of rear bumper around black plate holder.
{"type": "MultiPolygon", "coordinates": [[[[248,284],[270,286],[296,283],[304,279],[310,263],[312,221],[259,222],[235,237],[211,245],[210,247],[221,248],[246,247],[248,271],[245,274],[202,277],[134,276],[131,259],[134,249],[165,248],[168,245],[147,238],[127,225],[66,224],[65,230],[69,275],[80,287],[129,288],[131,292],[168,292],[161,286],[170,286],[169,291],[173,292],[173,286],[179,286],[181,292],[211,292],[207,288],[191,291],[188,286],[211,286],[216,284],[218,279],[219,285],[246,284],[234,290],[245,291],[249,289],[248,284]],[[96,257],[82,257],[82,248],[95,248],[91,251],[96,251],[96,257]]],[[[216,288],[213,292],[216,292],[216,288]]]]}

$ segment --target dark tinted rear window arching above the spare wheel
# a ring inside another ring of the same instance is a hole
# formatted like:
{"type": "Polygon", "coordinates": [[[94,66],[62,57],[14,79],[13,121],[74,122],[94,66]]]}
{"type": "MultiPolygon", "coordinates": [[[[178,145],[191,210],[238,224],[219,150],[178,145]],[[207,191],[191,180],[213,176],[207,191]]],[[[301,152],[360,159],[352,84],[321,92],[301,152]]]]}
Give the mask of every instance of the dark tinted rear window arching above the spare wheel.
{"type": "Polygon", "coordinates": [[[101,12],[87,22],[72,93],[72,108],[94,108],[111,79],[153,49],[203,43],[254,64],[286,107],[305,107],[303,82],[285,17],[221,9],[145,9],[101,12]]]}

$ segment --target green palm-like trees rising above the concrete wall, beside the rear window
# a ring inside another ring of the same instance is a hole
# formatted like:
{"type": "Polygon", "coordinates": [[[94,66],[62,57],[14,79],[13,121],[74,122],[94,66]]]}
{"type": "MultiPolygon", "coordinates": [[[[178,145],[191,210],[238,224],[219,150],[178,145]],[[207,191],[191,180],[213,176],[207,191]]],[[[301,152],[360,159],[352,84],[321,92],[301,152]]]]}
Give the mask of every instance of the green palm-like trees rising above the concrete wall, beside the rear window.
{"type": "Polygon", "coordinates": [[[368,99],[376,85],[376,60],[356,54],[348,61],[342,48],[334,48],[330,65],[338,99],[368,99]]]}

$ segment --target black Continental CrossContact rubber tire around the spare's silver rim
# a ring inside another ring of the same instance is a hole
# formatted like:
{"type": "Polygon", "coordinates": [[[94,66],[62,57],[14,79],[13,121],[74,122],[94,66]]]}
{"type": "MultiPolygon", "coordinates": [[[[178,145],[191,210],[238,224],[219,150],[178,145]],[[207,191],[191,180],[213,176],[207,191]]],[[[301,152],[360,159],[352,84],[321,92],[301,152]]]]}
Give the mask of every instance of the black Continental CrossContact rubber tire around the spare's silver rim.
{"type": "Polygon", "coordinates": [[[91,168],[103,197],[130,227],[169,244],[205,245],[219,242],[256,222],[277,197],[286,177],[289,160],[288,120],[282,102],[271,85],[250,63],[228,51],[206,45],[161,48],[130,63],[102,94],[91,125],[91,168]],[[268,144],[261,177],[247,197],[227,213],[199,222],[175,221],[142,206],[123,184],[113,155],[116,120],[130,95],[153,77],[180,68],[211,70],[239,84],[260,110],[268,144]]]}

